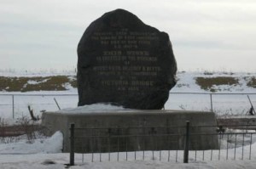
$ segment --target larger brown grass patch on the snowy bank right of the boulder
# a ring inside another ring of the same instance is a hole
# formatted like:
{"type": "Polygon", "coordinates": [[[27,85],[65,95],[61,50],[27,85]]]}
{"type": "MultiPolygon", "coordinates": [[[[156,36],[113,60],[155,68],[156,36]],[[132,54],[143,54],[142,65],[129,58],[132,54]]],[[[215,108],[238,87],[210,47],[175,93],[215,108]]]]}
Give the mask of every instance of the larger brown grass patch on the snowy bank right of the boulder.
{"type": "Polygon", "coordinates": [[[235,77],[219,76],[219,77],[196,77],[195,83],[201,87],[201,89],[216,92],[213,88],[214,85],[238,85],[239,81],[235,77]]]}

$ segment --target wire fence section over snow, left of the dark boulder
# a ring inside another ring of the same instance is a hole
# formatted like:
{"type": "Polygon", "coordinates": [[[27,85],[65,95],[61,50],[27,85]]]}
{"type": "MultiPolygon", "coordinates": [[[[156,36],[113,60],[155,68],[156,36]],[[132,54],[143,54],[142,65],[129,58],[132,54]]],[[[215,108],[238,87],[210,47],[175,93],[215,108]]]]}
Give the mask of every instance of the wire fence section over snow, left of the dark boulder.
{"type": "Polygon", "coordinates": [[[78,94],[0,94],[0,114],[3,118],[19,118],[29,115],[30,106],[35,115],[41,115],[44,111],[59,110],[59,107],[76,107],[78,101],[78,94]]]}

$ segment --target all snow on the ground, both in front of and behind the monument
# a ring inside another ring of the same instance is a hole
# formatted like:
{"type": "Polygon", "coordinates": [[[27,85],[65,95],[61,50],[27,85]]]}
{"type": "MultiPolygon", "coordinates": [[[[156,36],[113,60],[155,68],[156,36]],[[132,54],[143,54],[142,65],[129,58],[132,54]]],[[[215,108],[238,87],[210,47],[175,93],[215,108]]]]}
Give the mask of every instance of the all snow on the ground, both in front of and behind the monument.
{"type": "MultiPolygon", "coordinates": [[[[31,76],[31,75],[22,75],[31,76]]],[[[49,75],[48,75],[49,76],[49,75]]],[[[202,90],[195,84],[195,76],[204,76],[199,73],[180,73],[177,75],[179,81],[177,87],[172,89],[169,100],[165,108],[171,110],[211,110],[210,93],[202,90]],[[180,84],[180,85],[178,85],[180,84]],[[197,93],[197,94],[190,94],[197,93]],[[200,94],[207,93],[207,94],[200,94]]],[[[221,76],[221,75],[217,75],[221,76]]],[[[244,74],[236,74],[241,78],[244,74]]],[[[247,75],[248,76],[248,75],[247,75]]],[[[255,76],[255,75],[250,75],[255,76]]],[[[245,83],[239,86],[222,86],[217,93],[212,94],[212,108],[218,115],[246,115],[251,105],[248,102],[247,94],[252,99],[253,105],[256,105],[256,91],[253,87],[247,87],[245,83]],[[240,93],[240,94],[230,94],[240,93]],[[247,93],[247,94],[241,94],[247,93]]],[[[30,105],[35,115],[42,114],[42,111],[58,110],[55,100],[57,100],[61,109],[74,108],[78,103],[77,90],[70,88],[63,92],[28,92],[28,93],[6,93],[0,92],[0,115],[1,119],[11,124],[13,118],[13,94],[14,95],[14,112],[15,119],[21,116],[29,116],[27,106],[30,105]]],[[[241,132],[241,131],[233,131],[241,132]]],[[[93,155],[75,155],[76,166],[69,168],[149,168],[149,169],[166,169],[166,168],[255,168],[256,166],[256,135],[252,132],[242,138],[238,136],[237,146],[234,144],[234,137],[222,138],[220,150],[206,151],[189,151],[189,164],[183,164],[183,151],[155,151],[146,152],[145,159],[142,158],[142,152],[137,152],[137,161],[135,161],[134,152],[129,154],[128,161],[125,160],[124,154],[111,154],[111,161],[108,161],[108,155],[102,154],[102,161],[99,161],[99,154],[93,155]],[[230,139],[233,139],[230,141],[230,139]],[[241,146],[241,140],[245,139],[245,146],[241,146]],[[228,149],[227,149],[228,148],[228,149]],[[160,160],[161,157],[161,160],[160,160]],[[170,157],[170,161],[168,160],[170,157]],[[236,158],[236,160],[235,160],[236,158]]],[[[0,168],[66,168],[69,163],[69,154],[61,153],[62,146],[61,132],[56,132],[50,138],[45,138],[38,134],[38,137],[32,142],[26,140],[26,136],[14,143],[0,144],[0,168]]]]}

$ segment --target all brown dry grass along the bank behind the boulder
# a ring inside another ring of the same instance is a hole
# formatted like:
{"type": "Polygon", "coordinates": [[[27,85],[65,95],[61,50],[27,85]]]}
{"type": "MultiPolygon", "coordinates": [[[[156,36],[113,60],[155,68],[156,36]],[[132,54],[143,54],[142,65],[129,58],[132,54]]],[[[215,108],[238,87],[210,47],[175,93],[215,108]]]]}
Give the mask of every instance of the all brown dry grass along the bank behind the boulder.
{"type": "MultiPolygon", "coordinates": [[[[206,72],[207,75],[212,73],[206,72]]],[[[245,77],[248,87],[256,88],[256,78],[245,77]]],[[[216,92],[213,87],[218,85],[239,85],[236,77],[195,77],[195,82],[201,89],[216,92]]],[[[65,85],[77,87],[76,76],[35,76],[35,77],[8,77],[0,76],[0,91],[7,92],[29,92],[29,91],[63,91],[67,90],[65,85]]],[[[189,87],[189,84],[177,84],[177,87],[189,87]]]]}

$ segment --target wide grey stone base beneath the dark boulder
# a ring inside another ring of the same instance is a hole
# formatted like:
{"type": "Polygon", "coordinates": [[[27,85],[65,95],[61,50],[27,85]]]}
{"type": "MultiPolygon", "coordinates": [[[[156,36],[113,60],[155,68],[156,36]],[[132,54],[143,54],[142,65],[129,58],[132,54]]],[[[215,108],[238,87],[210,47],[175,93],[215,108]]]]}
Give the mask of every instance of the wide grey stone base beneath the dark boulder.
{"type": "Polygon", "coordinates": [[[216,133],[216,127],[193,127],[216,126],[212,112],[119,110],[108,113],[44,112],[42,116],[47,135],[56,131],[63,133],[64,152],[70,149],[70,124],[74,123],[75,128],[87,128],[75,130],[75,137],[84,137],[75,140],[75,151],[81,153],[183,149],[186,121],[190,121],[191,126],[190,149],[218,149],[218,135],[198,135],[216,133]],[[120,135],[124,137],[115,137],[120,135]]]}

